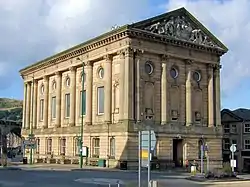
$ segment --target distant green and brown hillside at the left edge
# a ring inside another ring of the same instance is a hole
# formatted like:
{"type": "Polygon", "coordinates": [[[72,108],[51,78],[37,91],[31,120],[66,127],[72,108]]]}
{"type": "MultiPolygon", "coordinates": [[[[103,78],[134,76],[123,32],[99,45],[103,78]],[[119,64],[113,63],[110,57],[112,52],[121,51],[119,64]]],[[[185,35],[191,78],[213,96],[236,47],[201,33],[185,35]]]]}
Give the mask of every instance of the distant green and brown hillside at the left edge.
{"type": "Polygon", "coordinates": [[[21,120],[22,104],[21,100],[0,98],[0,119],[21,120]]]}

